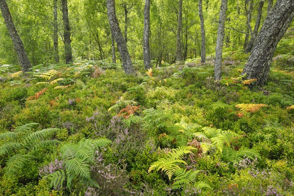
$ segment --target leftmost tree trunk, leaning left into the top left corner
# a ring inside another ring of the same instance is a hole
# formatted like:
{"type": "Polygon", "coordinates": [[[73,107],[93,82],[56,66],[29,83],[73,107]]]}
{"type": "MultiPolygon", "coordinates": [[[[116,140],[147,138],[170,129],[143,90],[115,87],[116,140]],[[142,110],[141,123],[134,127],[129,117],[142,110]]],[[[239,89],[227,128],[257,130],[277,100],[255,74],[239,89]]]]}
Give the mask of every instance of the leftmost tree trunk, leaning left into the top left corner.
{"type": "Polygon", "coordinates": [[[31,68],[31,64],[30,64],[28,57],[27,57],[27,54],[25,52],[25,47],[24,47],[23,41],[21,40],[21,37],[19,36],[19,34],[14,26],[9,8],[8,8],[5,0],[0,0],[0,9],[1,9],[2,16],[4,18],[4,21],[5,21],[5,24],[7,27],[7,30],[9,32],[11,39],[12,39],[14,49],[17,53],[19,63],[21,64],[23,71],[27,72],[29,70],[29,68],[31,68]]]}

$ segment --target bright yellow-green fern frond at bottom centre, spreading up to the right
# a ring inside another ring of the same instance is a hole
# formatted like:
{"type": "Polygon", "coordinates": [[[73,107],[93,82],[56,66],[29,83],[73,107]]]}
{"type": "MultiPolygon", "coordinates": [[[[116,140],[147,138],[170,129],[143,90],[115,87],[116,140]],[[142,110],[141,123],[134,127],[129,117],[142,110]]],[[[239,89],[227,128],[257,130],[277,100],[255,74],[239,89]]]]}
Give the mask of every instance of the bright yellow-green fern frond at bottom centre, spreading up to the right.
{"type": "Polygon", "coordinates": [[[181,158],[188,153],[192,153],[191,150],[196,149],[195,147],[178,147],[176,149],[172,149],[172,152],[166,154],[166,157],[160,158],[158,161],[154,162],[148,169],[148,172],[152,170],[165,172],[169,179],[171,180],[172,175],[176,170],[179,170],[180,167],[178,164],[185,164],[187,163],[183,161],[181,158]]]}

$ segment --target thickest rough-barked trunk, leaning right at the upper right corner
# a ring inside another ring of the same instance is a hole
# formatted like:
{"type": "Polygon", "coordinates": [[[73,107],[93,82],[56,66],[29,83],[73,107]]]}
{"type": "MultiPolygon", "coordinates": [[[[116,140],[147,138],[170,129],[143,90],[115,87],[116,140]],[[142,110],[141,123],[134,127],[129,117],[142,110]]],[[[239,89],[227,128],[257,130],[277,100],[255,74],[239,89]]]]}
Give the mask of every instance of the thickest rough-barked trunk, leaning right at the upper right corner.
{"type": "Polygon", "coordinates": [[[257,85],[264,85],[270,72],[274,50],[294,18],[294,0],[277,0],[264,25],[257,35],[256,42],[243,75],[247,79],[257,79],[257,85]]]}

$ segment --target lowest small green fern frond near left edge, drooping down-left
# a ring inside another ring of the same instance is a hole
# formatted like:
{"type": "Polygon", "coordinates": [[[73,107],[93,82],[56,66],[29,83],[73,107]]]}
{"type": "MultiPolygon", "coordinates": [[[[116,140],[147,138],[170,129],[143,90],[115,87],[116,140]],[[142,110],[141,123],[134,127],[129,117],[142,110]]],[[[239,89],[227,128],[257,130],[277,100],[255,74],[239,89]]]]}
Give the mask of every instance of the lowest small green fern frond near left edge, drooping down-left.
{"type": "Polygon", "coordinates": [[[5,173],[12,175],[19,169],[24,168],[25,164],[31,160],[32,156],[28,154],[16,154],[12,156],[5,167],[5,173]]]}

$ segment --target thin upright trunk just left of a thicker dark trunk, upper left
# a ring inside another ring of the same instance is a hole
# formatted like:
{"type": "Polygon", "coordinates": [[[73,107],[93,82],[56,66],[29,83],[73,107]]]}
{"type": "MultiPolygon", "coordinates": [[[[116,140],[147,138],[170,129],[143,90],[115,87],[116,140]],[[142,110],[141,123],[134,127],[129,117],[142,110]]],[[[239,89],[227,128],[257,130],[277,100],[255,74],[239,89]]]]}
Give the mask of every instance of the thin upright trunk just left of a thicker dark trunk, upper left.
{"type": "Polygon", "coordinates": [[[57,0],[53,0],[53,45],[54,45],[54,60],[59,63],[58,51],[58,25],[57,25],[57,0]]]}

